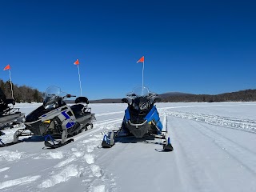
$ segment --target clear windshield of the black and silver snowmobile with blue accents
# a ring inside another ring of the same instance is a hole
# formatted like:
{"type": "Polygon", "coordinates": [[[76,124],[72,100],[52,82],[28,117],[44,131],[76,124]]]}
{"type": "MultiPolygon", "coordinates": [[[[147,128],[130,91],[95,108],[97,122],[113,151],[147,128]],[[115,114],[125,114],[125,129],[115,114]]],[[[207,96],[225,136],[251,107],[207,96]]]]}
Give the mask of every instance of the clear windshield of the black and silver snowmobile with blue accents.
{"type": "Polygon", "coordinates": [[[43,106],[46,110],[51,110],[58,107],[60,100],[61,89],[58,86],[50,86],[47,88],[43,100],[43,106]]]}

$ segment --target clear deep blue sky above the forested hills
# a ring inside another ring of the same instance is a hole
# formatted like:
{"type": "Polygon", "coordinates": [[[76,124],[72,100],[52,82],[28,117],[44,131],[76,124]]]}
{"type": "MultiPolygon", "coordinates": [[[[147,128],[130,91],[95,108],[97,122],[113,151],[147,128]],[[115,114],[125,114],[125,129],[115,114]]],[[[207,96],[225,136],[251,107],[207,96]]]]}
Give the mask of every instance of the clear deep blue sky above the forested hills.
{"type": "MultiPolygon", "coordinates": [[[[255,1],[0,2],[0,67],[18,86],[122,98],[256,88],[255,1]]],[[[9,79],[0,70],[0,78],[9,79]]]]}

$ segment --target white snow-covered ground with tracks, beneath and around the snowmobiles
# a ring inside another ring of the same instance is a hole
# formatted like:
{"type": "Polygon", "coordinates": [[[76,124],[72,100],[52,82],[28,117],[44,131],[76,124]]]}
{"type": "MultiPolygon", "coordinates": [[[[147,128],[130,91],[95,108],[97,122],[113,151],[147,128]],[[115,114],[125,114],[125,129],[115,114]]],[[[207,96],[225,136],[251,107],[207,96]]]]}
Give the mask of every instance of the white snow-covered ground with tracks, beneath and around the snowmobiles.
{"type": "MultiPolygon", "coordinates": [[[[38,104],[17,104],[26,114],[38,104]]],[[[43,142],[0,148],[0,191],[256,191],[256,102],[157,103],[174,151],[145,142],[102,149],[126,104],[90,104],[94,129],[56,150],[43,142]]],[[[4,130],[11,141],[16,129],[4,130]]]]}

